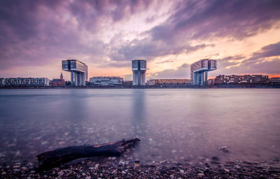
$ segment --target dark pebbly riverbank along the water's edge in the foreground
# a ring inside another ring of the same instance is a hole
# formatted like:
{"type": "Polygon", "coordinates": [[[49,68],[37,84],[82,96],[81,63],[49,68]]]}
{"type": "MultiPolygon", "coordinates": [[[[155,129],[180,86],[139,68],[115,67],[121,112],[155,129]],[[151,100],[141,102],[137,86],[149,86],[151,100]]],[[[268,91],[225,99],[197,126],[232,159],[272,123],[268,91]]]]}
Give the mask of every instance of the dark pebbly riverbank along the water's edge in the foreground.
{"type": "Polygon", "coordinates": [[[39,171],[31,163],[0,167],[0,178],[280,178],[279,160],[270,162],[200,162],[141,164],[122,158],[82,159],[49,171],[39,171]],[[98,162],[97,162],[98,160],[98,162]],[[106,162],[105,162],[106,161],[106,162]]]}

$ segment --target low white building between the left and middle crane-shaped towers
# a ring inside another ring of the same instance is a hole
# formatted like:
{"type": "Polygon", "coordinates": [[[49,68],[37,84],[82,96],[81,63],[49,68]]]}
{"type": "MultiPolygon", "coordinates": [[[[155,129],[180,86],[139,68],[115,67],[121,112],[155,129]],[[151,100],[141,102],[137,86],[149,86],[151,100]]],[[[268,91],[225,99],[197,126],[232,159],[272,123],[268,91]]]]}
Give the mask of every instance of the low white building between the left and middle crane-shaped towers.
{"type": "Polygon", "coordinates": [[[118,76],[95,76],[90,78],[90,85],[115,86],[123,85],[123,78],[118,76]]]}

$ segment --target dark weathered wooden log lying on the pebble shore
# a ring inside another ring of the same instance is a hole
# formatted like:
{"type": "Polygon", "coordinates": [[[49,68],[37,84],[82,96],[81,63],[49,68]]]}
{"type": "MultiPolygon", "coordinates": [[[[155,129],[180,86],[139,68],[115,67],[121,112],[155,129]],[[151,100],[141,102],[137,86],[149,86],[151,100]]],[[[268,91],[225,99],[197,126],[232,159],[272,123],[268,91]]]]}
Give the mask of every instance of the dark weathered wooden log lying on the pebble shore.
{"type": "Polygon", "coordinates": [[[57,148],[37,155],[39,169],[52,169],[74,159],[98,156],[120,156],[127,148],[134,147],[139,138],[130,138],[102,145],[80,145],[57,148]]]}

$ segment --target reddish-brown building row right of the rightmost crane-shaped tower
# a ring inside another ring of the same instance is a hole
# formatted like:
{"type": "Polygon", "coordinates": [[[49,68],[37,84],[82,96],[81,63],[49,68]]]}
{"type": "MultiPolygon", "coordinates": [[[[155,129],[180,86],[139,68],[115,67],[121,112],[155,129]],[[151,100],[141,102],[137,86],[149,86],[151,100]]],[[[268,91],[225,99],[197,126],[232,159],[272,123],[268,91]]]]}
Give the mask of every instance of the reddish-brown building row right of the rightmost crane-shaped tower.
{"type": "Polygon", "coordinates": [[[244,75],[244,76],[236,76],[236,75],[219,75],[214,79],[215,84],[265,84],[268,83],[268,76],[262,75],[244,75]]]}

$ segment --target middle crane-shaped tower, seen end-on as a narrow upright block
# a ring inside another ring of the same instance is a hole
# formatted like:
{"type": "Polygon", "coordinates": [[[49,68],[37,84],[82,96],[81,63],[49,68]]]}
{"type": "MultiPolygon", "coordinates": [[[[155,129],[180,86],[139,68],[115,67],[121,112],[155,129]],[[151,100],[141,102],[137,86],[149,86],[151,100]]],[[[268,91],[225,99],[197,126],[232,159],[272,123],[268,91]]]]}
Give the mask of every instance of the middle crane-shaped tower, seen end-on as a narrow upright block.
{"type": "Polygon", "coordinates": [[[146,60],[132,60],[133,85],[145,85],[146,83],[146,60]]]}

